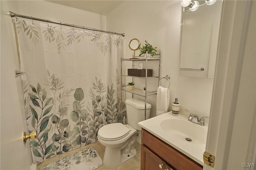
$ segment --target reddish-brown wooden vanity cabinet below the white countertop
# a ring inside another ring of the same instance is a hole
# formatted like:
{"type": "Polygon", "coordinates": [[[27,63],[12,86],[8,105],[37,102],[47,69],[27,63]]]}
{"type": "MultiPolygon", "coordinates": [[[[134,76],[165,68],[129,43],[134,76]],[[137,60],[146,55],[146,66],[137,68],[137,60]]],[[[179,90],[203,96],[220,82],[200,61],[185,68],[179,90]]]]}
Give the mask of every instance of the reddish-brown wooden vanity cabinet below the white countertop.
{"type": "Polygon", "coordinates": [[[142,129],[140,170],[202,170],[203,166],[142,129]]]}

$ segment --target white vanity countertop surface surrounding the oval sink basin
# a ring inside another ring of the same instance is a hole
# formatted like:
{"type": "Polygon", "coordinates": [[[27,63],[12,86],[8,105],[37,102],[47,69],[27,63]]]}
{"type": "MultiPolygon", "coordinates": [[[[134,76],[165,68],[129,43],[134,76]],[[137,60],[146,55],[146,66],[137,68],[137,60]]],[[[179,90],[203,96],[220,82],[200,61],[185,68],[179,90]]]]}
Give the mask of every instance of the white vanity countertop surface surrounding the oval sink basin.
{"type": "MultiPolygon", "coordinates": [[[[192,142],[190,143],[186,140],[182,141],[180,139],[177,139],[176,137],[173,137],[173,135],[164,131],[161,128],[160,123],[166,119],[182,119],[182,120],[188,121],[188,117],[186,117],[185,115],[180,114],[178,116],[174,116],[174,115],[172,115],[171,112],[168,112],[168,113],[164,113],[162,115],[156,116],[156,117],[152,117],[145,121],[141,121],[138,123],[138,125],[140,127],[142,127],[143,129],[145,129],[146,131],[152,133],[153,135],[155,135],[162,141],[168,143],[170,146],[172,146],[175,149],[179,150],[180,152],[184,153],[191,159],[195,160],[199,164],[204,165],[203,153],[204,153],[205,147],[206,147],[206,137],[205,137],[204,144],[195,144],[192,142]]],[[[189,122],[189,123],[192,123],[192,122],[189,122]]],[[[192,123],[191,125],[192,126],[200,126],[196,123],[192,123]]],[[[207,131],[208,126],[200,126],[200,128],[204,128],[207,131]]]]}

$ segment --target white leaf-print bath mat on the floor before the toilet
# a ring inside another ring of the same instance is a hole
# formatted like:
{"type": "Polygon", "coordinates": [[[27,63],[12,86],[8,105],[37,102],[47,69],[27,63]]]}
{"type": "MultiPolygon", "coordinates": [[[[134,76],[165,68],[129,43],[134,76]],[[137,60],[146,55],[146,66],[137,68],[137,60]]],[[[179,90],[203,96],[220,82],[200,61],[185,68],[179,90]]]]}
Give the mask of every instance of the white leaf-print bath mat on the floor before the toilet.
{"type": "Polygon", "coordinates": [[[95,170],[102,165],[102,159],[95,148],[80,152],[52,162],[39,170],[95,170]]]}

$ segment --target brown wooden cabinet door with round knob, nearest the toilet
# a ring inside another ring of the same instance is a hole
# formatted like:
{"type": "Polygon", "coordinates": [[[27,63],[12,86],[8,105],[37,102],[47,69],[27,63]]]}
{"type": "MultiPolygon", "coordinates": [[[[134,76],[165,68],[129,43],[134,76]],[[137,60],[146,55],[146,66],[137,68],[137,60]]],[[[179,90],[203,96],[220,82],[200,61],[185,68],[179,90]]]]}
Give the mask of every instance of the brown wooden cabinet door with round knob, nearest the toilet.
{"type": "Polygon", "coordinates": [[[164,170],[165,166],[166,164],[162,159],[143,145],[141,146],[140,170],[164,170]]]}

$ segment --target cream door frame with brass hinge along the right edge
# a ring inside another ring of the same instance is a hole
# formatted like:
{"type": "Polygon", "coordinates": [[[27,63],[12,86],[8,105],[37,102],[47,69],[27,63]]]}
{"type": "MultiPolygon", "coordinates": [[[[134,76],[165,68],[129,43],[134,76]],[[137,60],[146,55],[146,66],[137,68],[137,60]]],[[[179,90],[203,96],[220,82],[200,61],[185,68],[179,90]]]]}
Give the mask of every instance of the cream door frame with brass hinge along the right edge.
{"type": "Polygon", "coordinates": [[[214,169],[240,170],[255,163],[256,3],[223,7],[206,151],[216,157],[214,169]]]}

